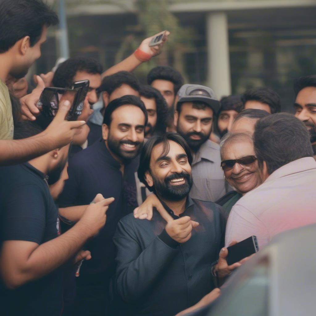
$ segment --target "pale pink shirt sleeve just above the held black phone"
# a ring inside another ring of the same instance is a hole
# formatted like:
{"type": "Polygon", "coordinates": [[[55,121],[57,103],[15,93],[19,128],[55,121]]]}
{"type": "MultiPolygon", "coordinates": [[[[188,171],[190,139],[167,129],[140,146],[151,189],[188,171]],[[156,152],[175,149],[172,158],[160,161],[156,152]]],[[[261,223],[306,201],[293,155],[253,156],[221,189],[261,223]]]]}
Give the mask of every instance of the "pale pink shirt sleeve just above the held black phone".
{"type": "Polygon", "coordinates": [[[252,235],[257,237],[259,249],[270,240],[267,228],[257,216],[241,205],[233,206],[227,221],[225,246],[232,240],[240,242],[252,235]]]}

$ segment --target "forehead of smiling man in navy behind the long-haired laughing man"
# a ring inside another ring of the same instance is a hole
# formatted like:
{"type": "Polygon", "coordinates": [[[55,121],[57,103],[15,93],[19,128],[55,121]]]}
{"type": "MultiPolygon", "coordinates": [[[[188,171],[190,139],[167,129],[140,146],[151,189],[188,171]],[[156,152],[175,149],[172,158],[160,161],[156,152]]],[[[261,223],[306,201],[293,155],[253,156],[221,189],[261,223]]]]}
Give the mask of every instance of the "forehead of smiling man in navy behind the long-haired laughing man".
{"type": "Polygon", "coordinates": [[[112,112],[111,125],[118,124],[144,125],[145,115],[138,106],[131,104],[122,105],[112,112]]]}

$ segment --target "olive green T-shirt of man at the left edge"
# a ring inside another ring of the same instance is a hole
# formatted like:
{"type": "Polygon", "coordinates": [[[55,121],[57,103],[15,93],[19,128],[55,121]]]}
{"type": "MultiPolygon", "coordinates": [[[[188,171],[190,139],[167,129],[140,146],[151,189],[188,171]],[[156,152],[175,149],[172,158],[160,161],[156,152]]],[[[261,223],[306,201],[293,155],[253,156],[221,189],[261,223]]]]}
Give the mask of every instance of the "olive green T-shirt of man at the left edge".
{"type": "Polygon", "coordinates": [[[8,87],[0,79],[0,139],[13,139],[12,105],[8,87]]]}

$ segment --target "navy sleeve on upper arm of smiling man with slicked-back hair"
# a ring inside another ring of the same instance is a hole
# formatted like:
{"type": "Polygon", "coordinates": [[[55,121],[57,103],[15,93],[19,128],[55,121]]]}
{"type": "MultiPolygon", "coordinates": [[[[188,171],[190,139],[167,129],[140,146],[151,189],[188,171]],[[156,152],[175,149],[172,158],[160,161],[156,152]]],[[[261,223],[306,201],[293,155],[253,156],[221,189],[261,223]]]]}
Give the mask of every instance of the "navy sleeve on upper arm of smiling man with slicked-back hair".
{"type": "MultiPolygon", "coordinates": [[[[75,158],[75,157],[74,157],[75,158]]],[[[80,170],[76,161],[70,159],[67,168],[68,179],[65,181],[64,189],[58,197],[59,207],[76,206],[79,196],[80,170]]]]}

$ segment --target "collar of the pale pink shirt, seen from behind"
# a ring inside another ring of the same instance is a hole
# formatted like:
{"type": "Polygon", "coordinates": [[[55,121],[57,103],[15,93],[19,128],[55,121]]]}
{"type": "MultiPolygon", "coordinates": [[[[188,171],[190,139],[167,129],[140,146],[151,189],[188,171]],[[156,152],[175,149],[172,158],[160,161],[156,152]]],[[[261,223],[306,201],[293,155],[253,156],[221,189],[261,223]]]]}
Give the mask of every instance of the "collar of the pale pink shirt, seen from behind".
{"type": "Polygon", "coordinates": [[[300,158],[280,167],[275,172],[271,173],[270,176],[264,182],[282,178],[290,174],[314,169],[316,169],[316,161],[313,157],[300,158]]]}

